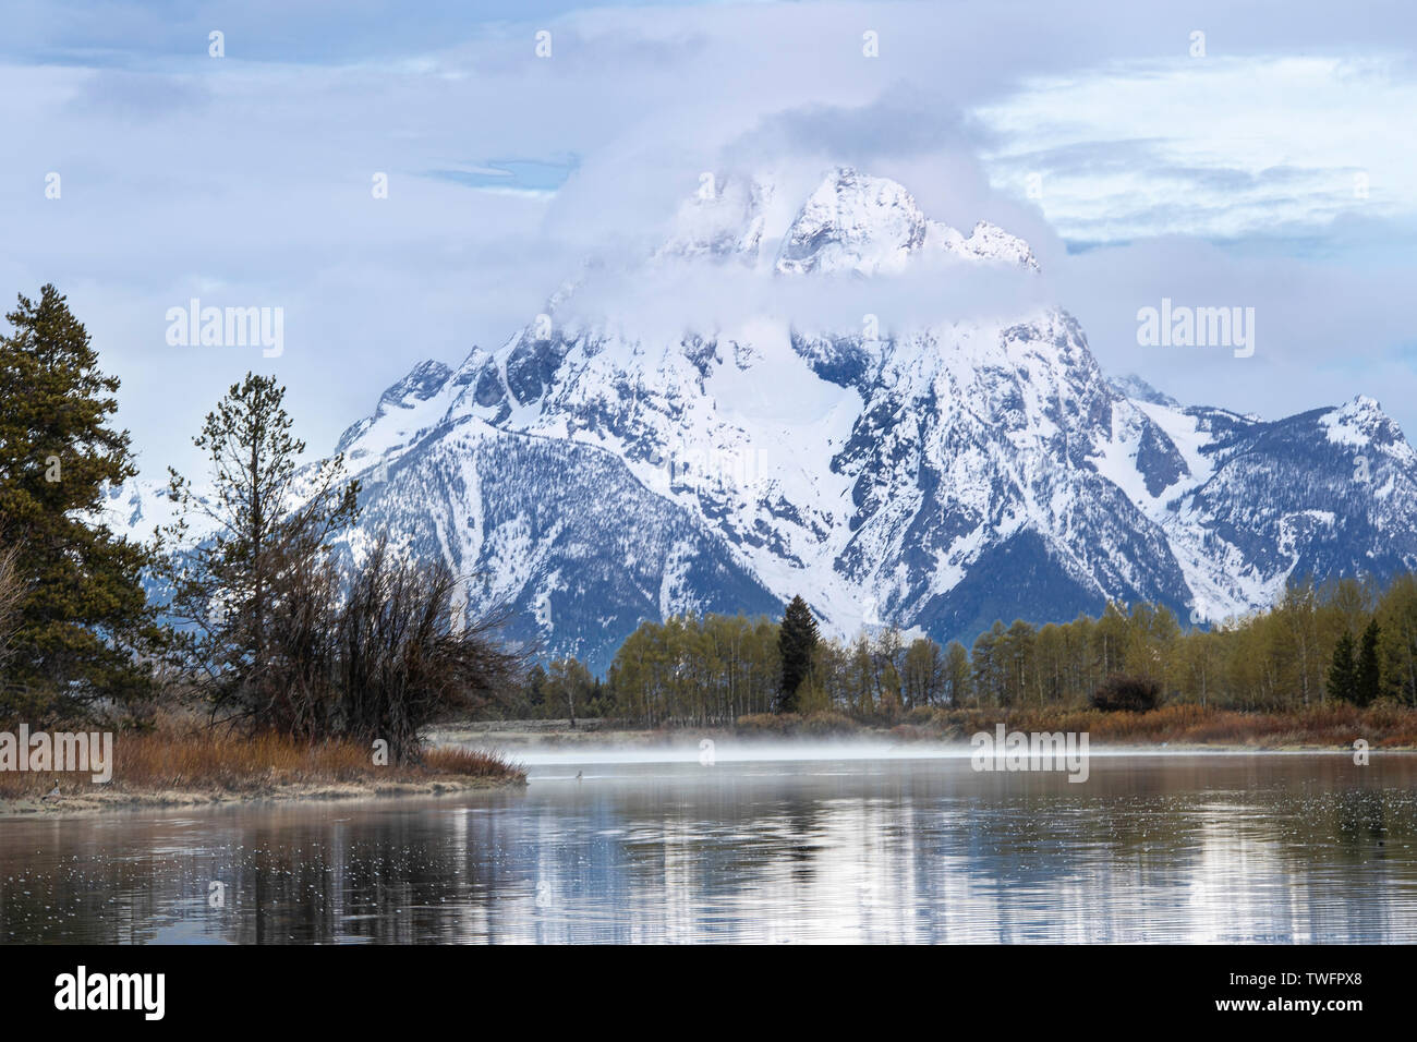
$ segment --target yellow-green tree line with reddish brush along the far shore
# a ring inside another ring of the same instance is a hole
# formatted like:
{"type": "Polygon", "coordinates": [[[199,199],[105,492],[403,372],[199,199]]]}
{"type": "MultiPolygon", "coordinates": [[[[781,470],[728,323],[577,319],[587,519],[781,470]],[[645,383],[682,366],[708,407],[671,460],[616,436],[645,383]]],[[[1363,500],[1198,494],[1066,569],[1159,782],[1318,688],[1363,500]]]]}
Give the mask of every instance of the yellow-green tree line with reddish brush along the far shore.
{"type": "Polygon", "coordinates": [[[897,627],[822,638],[801,598],[782,621],[643,622],[604,678],[533,663],[509,717],[632,727],[823,732],[1091,720],[1134,740],[1417,744],[1417,576],[1291,580],[1267,611],[1182,627],[1165,605],[1108,603],[1071,622],[995,622],[971,648],[897,627]],[[1158,713],[1161,713],[1158,716],[1158,713]]]}

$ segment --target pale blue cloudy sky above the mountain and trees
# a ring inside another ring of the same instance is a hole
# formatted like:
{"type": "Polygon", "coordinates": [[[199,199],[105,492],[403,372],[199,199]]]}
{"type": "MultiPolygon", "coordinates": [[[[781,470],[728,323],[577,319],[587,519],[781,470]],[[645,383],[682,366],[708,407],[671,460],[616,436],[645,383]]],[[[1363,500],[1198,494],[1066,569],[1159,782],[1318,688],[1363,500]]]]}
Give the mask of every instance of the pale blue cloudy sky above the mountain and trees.
{"type": "Polygon", "coordinates": [[[1417,434],[1417,16],[1234,7],[6,1],[0,292],[69,295],[147,475],[252,367],[323,452],[650,248],[701,172],[852,163],[1026,237],[1111,371],[1417,434]],[[285,353],[167,344],[193,296],[283,308],[285,353]],[[1254,306],[1255,356],[1138,347],[1162,296],[1254,306]]]}

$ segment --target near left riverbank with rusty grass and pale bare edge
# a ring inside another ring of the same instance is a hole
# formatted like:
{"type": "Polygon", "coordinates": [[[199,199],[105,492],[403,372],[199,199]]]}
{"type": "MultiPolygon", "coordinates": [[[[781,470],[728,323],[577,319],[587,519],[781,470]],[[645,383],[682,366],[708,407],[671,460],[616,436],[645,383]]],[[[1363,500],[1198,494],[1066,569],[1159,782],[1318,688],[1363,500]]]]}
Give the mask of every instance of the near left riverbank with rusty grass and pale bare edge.
{"type": "Polygon", "coordinates": [[[0,818],[442,795],[526,784],[520,766],[480,749],[434,746],[422,763],[377,766],[371,750],[351,741],[310,744],[273,734],[120,733],[112,756],[111,778],[102,783],[92,773],[0,773],[0,818]]]}

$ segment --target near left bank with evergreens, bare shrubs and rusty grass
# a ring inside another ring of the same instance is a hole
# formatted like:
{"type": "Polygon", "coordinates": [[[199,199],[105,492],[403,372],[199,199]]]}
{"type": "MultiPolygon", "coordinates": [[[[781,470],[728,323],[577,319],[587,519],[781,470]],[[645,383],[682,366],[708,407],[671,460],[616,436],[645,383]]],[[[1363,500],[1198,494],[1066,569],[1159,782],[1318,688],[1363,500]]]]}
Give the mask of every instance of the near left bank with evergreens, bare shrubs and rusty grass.
{"type": "Polygon", "coordinates": [[[193,438],[205,475],[169,468],[166,523],[129,537],[111,513],[137,475],[118,377],[52,285],[6,322],[0,815],[526,780],[424,737],[526,668],[503,617],[388,533],[341,543],[360,483],[343,455],[303,462],[273,376],[230,386],[193,438]]]}

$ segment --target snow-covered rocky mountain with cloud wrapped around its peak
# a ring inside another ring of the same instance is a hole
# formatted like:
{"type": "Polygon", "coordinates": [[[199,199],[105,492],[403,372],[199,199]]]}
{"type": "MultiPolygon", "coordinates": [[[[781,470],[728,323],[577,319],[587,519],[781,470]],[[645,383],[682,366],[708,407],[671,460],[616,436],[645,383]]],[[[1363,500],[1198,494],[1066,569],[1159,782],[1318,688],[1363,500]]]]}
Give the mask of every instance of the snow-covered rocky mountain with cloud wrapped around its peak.
{"type": "Polygon", "coordinates": [[[473,610],[512,605],[517,637],[595,668],[643,618],[798,593],[829,631],[968,642],[1108,598],[1216,621],[1291,574],[1417,563],[1417,458],[1369,398],[1182,407],[1107,379],[1054,306],[854,329],[774,308],[1036,278],[1026,242],[894,181],[839,169],[803,201],[726,180],[643,274],[676,265],[747,303],[665,335],[662,296],[655,320],[587,318],[572,284],[497,350],[390,387],[339,445],[366,483],[351,547],[387,529],[439,554],[480,577],[473,610]]]}

